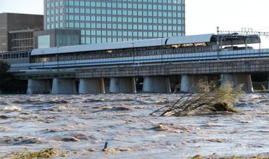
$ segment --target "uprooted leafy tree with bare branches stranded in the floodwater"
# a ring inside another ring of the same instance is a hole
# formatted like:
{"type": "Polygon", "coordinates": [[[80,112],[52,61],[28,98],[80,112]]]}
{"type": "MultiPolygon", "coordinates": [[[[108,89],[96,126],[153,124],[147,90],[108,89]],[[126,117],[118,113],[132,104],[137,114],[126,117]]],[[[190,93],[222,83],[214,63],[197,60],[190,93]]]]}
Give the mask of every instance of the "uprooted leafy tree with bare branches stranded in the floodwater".
{"type": "Polygon", "coordinates": [[[242,87],[243,84],[233,88],[233,83],[226,83],[220,87],[213,81],[209,84],[199,81],[190,88],[189,93],[183,94],[174,104],[165,105],[150,115],[158,113],[160,116],[178,117],[212,111],[239,112],[233,104],[244,93],[242,87]]]}

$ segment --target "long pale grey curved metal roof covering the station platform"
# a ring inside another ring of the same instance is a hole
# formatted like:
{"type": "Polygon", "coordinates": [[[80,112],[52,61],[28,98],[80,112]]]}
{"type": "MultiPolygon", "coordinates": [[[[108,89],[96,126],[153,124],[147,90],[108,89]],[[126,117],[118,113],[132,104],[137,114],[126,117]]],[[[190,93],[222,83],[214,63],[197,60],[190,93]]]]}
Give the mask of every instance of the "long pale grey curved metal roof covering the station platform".
{"type": "MultiPolygon", "coordinates": [[[[222,46],[233,44],[244,44],[244,37],[234,38],[234,35],[228,35],[227,40],[222,42],[222,46]],[[228,38],[229,37],[229,38],[228,38]],[[228,41],[228,39],[230,41],[228,41]]],[[[166,46],[174,44],[187,44],[187,43],[200,43],[200,42],[212,42],[216,43],[217,35],[214,34],[201,34],[201,35],[189,35],[189,36],[172,36],[156,39],[144,39],[135,41],[122,41],[111,43],[96,43],[96,44],[82,44],[79,46],[68,47],[55,47],[46,49],[34,49],[31,55],[46,55],[46,54],[62,54],[62,53],[75,53],[85,51],[101,51],[101,50],[116,50],[127,48],[143,48],[143,47],[156,47],[166,46]]],[[[258,43],[259,37],[247,38],[248,43],[258,43]],[[256,40],[257,39],[257,40],[256,40]]]]}

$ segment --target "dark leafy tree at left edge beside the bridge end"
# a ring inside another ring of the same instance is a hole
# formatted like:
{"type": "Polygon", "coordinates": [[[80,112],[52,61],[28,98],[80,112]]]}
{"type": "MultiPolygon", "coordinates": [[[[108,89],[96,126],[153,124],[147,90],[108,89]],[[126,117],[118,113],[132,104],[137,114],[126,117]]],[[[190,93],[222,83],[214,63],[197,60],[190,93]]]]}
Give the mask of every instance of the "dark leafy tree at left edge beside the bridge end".
{"type": "Polygon", "coordinates": [[[14,87],[15,78],[8,72],[9,69],[10,65],[0,60],[0,93],[8,92],[10,88],[14,87]]]}

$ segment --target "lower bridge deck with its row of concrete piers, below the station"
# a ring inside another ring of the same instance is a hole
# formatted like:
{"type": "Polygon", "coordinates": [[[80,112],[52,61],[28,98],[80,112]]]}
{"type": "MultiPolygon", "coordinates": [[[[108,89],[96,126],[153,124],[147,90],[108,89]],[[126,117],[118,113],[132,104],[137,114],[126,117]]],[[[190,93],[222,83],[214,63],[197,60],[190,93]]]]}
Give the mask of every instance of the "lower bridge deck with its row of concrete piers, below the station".
{"type": "Polygon", "coordinates": [[[20,72],[15,76],[28,80],[28,94],[136,93],[137,77],[144,78],[144,92],[171,93],[171,77],[178,77],[180,80],[176,82],[183,92],[199,80],[214,79],[221,80],[221,84],[244,84],[243,90],[250,93],[253,92],[250,74],[263,72],[269,72],[269,57],[20,72]]]}

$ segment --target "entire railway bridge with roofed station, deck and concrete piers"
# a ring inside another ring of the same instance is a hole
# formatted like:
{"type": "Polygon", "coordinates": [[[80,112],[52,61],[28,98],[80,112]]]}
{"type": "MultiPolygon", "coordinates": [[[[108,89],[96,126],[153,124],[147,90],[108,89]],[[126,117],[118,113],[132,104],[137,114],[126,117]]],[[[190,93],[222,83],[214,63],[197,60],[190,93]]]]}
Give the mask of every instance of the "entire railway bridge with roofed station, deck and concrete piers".
{"type": "Polygon", "coordinates": [[[143,92],[170,93],[177,84],[188,92],[199,80],[253,92],[250,74],[269,72],[269,49],[248,46],[259,42],[257,35],[205,34],[36,49],[13,70],[28,80],[28,94],[136,93],[138,84],[143,92]]]}

